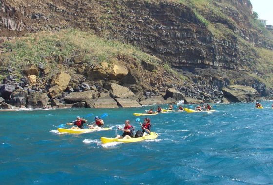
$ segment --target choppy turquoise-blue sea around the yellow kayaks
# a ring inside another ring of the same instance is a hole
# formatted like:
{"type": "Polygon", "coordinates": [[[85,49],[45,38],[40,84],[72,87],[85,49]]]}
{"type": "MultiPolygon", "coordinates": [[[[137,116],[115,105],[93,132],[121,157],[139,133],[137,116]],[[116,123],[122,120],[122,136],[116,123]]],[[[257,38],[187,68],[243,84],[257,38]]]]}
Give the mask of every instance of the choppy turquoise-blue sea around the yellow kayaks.
{"type": "Polygon", "coordinates": [[[157,139],[106,146],[101,136],[121,134],[125,119],[140,129],[132,113],[150,107],[0,112],[0,184],[273,184],[272,102],[262,104],[150,116],[157,139]],[[110,131],[56,131],[77,115],[104,112],[110,131]]]}

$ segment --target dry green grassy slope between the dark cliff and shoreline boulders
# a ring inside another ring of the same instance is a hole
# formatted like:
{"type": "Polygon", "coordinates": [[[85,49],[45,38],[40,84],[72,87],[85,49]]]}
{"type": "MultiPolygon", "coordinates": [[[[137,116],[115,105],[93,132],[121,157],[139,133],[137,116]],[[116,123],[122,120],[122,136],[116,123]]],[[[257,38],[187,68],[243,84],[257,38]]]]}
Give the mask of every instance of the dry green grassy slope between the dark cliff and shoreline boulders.
{"type": "Polygon", "coordinates": [[[6,71],[7,67],[13,69],[13,74],[21,77],[21,66],[33,64],[38,66],[50,66],[56,68],[56,56],[71,59],[75,55],[82,56],[84,62],[101,63],[114,61],[118,54],[129,55],[151,63],[160,61],[155,56],[142,52],[139,48],[118,41],[110,41],[99,38],[91,32],[83,32],[78,29],[69,29],[61,32],[41,32],[30,34],[27,37],[17,38],[15,41],[3,43],[4,60],[1,62],[0,71],[6,71]],[[11,51],[11,52],[9,52],[11,51]]]}

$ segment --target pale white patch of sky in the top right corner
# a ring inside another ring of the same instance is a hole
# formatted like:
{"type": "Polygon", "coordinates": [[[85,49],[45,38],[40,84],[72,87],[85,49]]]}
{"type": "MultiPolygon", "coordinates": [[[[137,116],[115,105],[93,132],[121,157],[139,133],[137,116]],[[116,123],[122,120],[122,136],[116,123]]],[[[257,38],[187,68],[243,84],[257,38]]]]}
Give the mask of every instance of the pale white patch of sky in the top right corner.
{"type": "Polygon", "coordinates": [[[250,0],[252,10],[257,12],[260,19],[267,20],[266,24],[273,25],[273,0],[250,0]]]}

